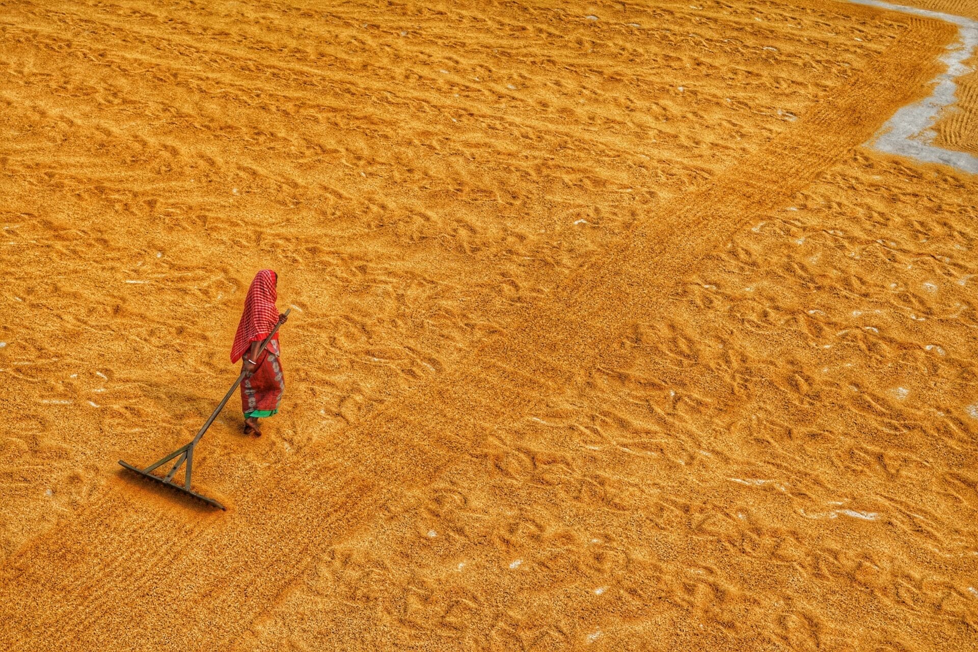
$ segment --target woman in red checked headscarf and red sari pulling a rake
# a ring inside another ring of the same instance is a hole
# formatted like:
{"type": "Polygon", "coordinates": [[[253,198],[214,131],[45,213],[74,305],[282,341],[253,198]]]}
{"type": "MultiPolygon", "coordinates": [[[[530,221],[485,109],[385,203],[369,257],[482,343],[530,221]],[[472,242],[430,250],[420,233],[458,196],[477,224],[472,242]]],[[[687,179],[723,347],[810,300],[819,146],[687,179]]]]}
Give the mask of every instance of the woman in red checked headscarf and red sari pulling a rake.
{"type": "Polygon", "coordinates": [[[245,376],[242,381],[242,411],[244,434],[261,436],[258,419],[279,412],[282,392],[286,388],[279,362],[279,333],[258,355],[261,342],[276,324],[285,324],[286,316],[279,315],[275,307],[278,298],[279,276],[272,270],[262,270],[255,275],[247,288],[244,314],[238,324],[235,343],[231,347],[231,362],[242,361],[245,376]]]}

